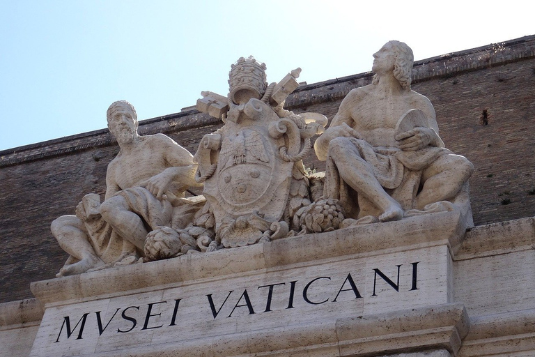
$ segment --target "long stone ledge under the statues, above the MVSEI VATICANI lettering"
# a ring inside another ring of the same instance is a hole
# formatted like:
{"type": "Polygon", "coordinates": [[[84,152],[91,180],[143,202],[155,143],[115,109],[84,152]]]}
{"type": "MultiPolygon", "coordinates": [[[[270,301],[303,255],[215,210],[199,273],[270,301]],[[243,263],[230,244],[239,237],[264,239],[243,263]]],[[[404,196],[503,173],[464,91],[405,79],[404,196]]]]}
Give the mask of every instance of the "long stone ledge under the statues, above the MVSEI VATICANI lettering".
{"type": "Polygon", "coordinates": [[[33,282],[42,304],[108,298],[137,291],[277,271],[355,257],[371,257],[437,245],[456,247],[465,234],[460,213],[430,213],[398,222],[362,225],[322,234],[280,239],[265,244],[192,254],[102,271],[33,282]]]}

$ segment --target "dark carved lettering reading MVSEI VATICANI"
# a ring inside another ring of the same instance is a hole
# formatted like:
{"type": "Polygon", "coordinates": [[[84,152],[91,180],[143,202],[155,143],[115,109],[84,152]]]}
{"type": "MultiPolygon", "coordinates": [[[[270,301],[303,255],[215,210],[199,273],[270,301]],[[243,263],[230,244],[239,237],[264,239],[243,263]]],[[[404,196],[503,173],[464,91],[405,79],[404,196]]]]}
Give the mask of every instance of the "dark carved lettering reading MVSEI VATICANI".
{"type": "MultiPolygon", "coordinates": [[[[385,289],[400,292],[419,290],[418,266],[419,261],[410,264],[398,264],[394,270],[394,276],[383,273],[378,268],[366,275],[366,279],[373,281],[373,294],[370,298],[384,294],[385,289]],[[405,274],[407,281],[400,281],[400,272],[410,271],[405,274]]],[[[208,312],[207,319],[228,319],[244,315],[263,314],[274,310],[288,310],[296,307],[300,299],[308,305],[323,305],[350,301],[363,298],[362,285],[364,282],[355,281],[353,275],[337,273],[333,276],[321,275],[304,281],[291,280],[288,282],[274,282],[258,287],[245,289],[231,289],[228,292],[208,293],[197,296],[199,301],[209,307],[200,309],[199,313],[208,312]],[[361,289],[359,289],[359,286],[361,289]],[[320,294],[317,294],[320,291],[320,294]],[[261,298],[251,299],[251,296],[261,298]],[[279,303],[274,306],[275,297],[279,303]],[[262,301],[262,303],[258,303],[262,301]],[[284,301],[284,304],[280,302],[284,301]],[[211,312],[211,313],[210,313],[211,312]]],[[[192,298],[192,297],[189,297],[192,298]]],[[[66,340],[82,340],[84,332],[88,329],[98,329],[98,335],[104,333],[129,333],[130,331],[146,331],[157,328],[169,328],[180,325],[180,303],[184,298],[175,298],[166,301],[154,301],[144,305],[130,305],[117,307],[111,317],[104,318],[103,311],[82,312],[77,316],[64,316],[57,321],[58,332],[55,343],[66,340]],[[118,322],[114,329],[108,329],[111,321],[118,322]],[[118,326],[118,327],[117,327],[118,326]]],[[[111,312],[110,312],[111,313],[111,312]]],[[[108,315],[109,316],[109,315],[108,315]]]]}

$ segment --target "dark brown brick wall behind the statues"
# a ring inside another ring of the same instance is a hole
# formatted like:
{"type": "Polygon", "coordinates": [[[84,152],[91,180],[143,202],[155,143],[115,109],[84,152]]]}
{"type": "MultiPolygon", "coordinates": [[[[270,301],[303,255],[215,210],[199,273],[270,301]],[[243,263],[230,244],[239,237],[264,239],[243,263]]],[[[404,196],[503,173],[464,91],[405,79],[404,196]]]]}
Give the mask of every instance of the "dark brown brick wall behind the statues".
{"type": "MultiPolygon", "coordinates": [[[[332,119],[343,96],[369,82],[364,73],[302,86],[287,107],[332,119]]],[[[433,102],[446,146],[476,167],[476,225],[535,215],[535,36],[419,61],[412,88],[433,102]]],[[[141,121],[139,132],[164,132],[194,153],[220,125],[189,111],[141,121]]],[[[50,222],[73,214],[87,193],[104,194],[117,152],[107,130],[0,151],[0,303],[30,298],[30,282],[54,278],[67,254],[50,222]]],[[[312,152],[304,161],[325,167],[312,152]]]]}

